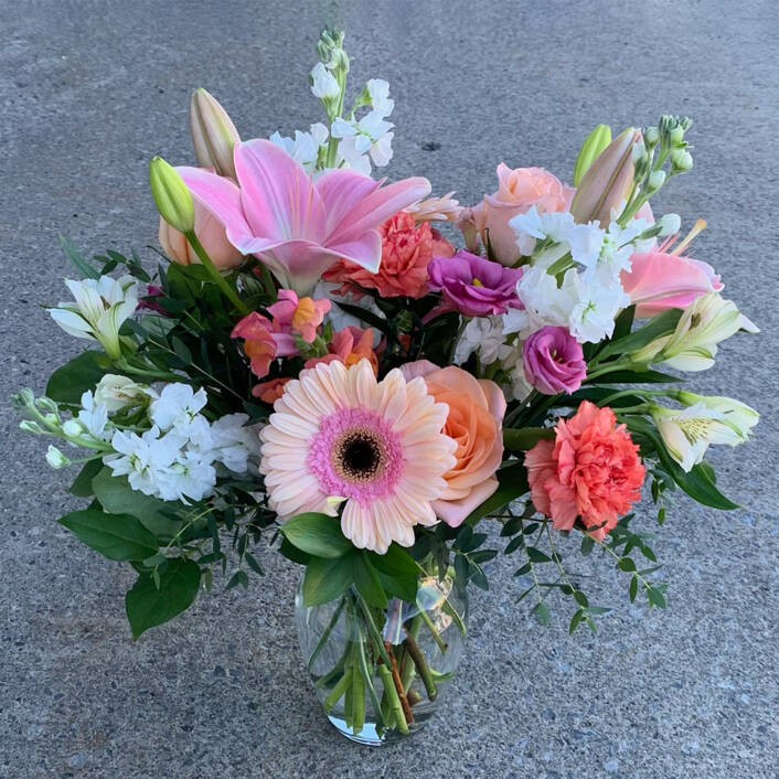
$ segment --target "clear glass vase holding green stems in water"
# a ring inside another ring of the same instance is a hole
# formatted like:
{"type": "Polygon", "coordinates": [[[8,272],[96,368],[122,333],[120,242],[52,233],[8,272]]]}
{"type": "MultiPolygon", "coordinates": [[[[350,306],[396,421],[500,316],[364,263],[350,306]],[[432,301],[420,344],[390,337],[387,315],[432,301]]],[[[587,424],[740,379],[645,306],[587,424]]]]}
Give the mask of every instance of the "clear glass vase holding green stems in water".
{"type": "Polygon", "coordinates": [[[352,587],[306,607],[301,581],[295,616],[328,718],[348,738],[380,745],[415,733],[439,706],[462,657],[468,599],[448,575],[420,579],[414,604],[372,608],[352,587]]]}

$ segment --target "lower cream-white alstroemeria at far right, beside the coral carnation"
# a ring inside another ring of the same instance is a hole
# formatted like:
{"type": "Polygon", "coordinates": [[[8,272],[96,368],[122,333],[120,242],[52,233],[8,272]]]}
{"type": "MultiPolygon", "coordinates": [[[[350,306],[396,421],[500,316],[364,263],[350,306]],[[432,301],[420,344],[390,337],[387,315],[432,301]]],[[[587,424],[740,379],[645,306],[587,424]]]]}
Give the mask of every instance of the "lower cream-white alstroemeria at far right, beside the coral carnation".
{"type": "Polygon", "coordinates": [[[653,406],[651,414],[669,453],[687,472],[703,460],[709,445],[737,446],[744,440],[723,412],[704,403],[682,409],[653,406]]]}

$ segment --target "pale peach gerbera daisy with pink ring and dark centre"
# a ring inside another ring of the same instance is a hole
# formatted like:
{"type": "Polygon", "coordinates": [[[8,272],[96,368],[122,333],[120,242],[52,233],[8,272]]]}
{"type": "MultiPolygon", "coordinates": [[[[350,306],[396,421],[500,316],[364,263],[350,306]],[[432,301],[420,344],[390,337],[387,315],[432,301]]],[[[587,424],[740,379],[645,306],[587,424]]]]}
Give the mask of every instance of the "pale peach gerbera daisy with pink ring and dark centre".
{"type": "Polygon", "coordinates": [[[281,520],[307,511],[341,515],[343,534],[384,554],[414,543],[414,525],[437,522],[430,502],[455,466],[455,441],[441,433],[448,406],[420,377],[398,370],[377,382],[367,360],[302,371],[285,386],[263,428],[259,470],[281,520]]]}

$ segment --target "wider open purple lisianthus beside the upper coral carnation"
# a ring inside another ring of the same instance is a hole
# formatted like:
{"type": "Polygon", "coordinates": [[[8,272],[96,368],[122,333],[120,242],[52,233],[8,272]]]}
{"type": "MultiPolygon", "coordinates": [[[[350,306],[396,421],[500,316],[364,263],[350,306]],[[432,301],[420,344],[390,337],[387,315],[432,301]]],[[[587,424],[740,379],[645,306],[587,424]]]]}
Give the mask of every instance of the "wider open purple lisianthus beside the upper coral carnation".
{"type": "Polygon", "coordinates": [[[504,268],[460,250],[453,257],[434,257],[427,274],[430,288],[440,290],[445,303],[466,317],[487,317],[522,308],[516,297],[522,268],[504,268]]]}

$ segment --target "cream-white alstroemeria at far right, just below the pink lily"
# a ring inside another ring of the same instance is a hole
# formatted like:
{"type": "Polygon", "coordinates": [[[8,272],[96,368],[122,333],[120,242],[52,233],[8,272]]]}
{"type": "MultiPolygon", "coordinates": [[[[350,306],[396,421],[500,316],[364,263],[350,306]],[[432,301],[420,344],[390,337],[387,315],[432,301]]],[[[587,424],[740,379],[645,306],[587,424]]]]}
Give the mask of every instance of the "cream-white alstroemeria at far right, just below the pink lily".
{"type": "Polygon", "coordinates": [[[634,359],[662,363],[677,371],[705,371],[714,365],[717,344],[740,329],[757,331],[732,300],[708,292],[695,298],[684,309],[671,335],[655,339],[634,359]]]}

